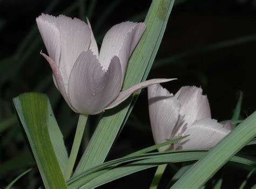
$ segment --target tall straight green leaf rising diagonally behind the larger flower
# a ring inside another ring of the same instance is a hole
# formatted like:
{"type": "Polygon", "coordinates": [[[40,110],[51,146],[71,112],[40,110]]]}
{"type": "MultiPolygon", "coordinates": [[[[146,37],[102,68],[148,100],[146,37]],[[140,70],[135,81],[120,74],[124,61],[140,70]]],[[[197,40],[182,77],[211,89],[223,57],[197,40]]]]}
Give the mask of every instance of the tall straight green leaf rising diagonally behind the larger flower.
{"type": "MultiPolygon", "coordinates": [[[[173,2],[173,0],[152,1],[145,19],[147,29],[129,60],[123,88],[128,88],[146,79],[163,38],[173,2]]],[[[127,117],[131,111],[129,106],[130,102],[126,101],[121,106],[110,110],[110,114],[100,120],[74,175],[104,162],[124,125],[125,116],[127,117]]]]}

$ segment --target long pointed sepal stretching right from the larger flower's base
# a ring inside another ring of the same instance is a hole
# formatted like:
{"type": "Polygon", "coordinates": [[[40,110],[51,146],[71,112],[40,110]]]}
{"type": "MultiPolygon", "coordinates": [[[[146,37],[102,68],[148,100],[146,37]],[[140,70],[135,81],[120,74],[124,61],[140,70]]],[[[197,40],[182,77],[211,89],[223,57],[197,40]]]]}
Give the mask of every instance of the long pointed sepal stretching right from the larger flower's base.
{"type": "Polygon", "coordinates": [[[116,99],[114,99],[113,102],[111,102],[109,105],[107,105],[107,107],[105,107],[104,110],[116,107],[118,104],[125,101],[136,90],[149,87],[156,83],[164,83],[164,82],[168,82],[168,81],[172,81],[172,80],[176,80],[176,79],[151,79],[151,80],[147,80],[147,81],[138,83],[138,84],[136,84],[132,87],[129,87],[129,88],[123,90],[122,92],[120,92],[120,94],[116,97],[116,99]]]}

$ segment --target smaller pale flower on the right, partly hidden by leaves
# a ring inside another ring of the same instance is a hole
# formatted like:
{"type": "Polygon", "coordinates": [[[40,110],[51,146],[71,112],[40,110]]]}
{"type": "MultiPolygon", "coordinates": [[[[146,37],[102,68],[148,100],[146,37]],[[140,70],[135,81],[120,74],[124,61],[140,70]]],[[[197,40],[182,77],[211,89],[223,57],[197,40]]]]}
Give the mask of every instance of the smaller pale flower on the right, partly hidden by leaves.
{"type": "Polygon", "coordinates": [[[177,149],[209,149],[231,130],[232,124],[220,124],[211,118],[206,95],[198,87],[185,86],[173,95],[159,84],[148,88],[150,122],[154,141],[187,136],[159,151],[177,149]]]}

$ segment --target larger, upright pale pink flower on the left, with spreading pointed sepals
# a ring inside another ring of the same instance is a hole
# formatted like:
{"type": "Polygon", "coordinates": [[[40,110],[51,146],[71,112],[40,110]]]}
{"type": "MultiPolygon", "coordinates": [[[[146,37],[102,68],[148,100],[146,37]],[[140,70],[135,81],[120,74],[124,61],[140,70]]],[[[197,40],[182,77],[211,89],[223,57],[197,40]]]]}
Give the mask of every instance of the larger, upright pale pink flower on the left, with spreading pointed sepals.
{"type": "Polygon", "coordinates": [[[105,35],[100,52],[89,20],[42,14],[36,19],[48,55],[53,80],[70,108],[98,114],[123,102],[134,91],[155,83],[153,79],[120,92],[127,62],[146,29],[144,23],[124,22],[105,35]]]}

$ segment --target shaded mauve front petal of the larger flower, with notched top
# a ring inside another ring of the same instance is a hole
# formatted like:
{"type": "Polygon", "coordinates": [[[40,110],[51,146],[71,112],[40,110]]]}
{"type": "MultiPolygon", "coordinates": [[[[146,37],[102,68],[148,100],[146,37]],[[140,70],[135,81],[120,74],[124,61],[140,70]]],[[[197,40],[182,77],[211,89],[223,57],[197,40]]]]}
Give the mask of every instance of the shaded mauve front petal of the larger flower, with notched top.
{"type": "Polygon", "coordinates": [[[113,57],[107,71],[92,51],[82,52],[70,74],[69,98],[79,113],[96,114],[117,97],[122,85],[118,57],[113,57]]]}

